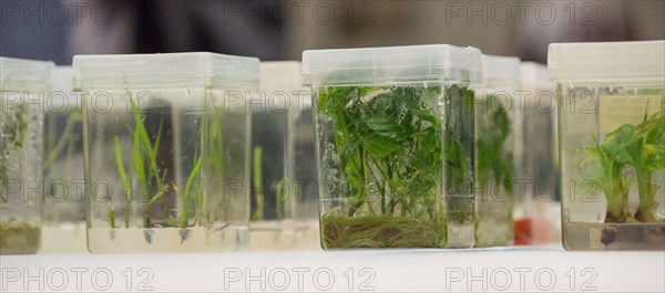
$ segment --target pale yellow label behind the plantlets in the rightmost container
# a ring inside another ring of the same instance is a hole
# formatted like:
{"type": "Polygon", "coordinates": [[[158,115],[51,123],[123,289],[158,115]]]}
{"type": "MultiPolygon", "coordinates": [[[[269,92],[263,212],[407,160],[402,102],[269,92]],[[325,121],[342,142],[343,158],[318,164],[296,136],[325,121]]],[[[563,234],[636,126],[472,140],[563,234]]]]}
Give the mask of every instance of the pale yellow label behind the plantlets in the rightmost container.
{"type": "Polygon", "coordinates": [[[637,125],[644,121],[645,113],[651,116],[661,112],[662,103],[663,97],[659,95],[601,96],[598,107],[600,130],[611,133],[624,124],[637,125]]]}

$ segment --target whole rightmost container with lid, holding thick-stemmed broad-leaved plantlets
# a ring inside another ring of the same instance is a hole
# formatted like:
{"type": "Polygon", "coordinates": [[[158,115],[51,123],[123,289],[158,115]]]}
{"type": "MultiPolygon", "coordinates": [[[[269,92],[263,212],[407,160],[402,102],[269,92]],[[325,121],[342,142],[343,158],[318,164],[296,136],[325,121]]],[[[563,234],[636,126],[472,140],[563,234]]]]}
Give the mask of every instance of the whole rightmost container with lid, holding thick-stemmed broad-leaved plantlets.
{"type": "Polygon", "coordinates": [[[563,244],[664,250],[665,41],[551,44],[563,244]]]}

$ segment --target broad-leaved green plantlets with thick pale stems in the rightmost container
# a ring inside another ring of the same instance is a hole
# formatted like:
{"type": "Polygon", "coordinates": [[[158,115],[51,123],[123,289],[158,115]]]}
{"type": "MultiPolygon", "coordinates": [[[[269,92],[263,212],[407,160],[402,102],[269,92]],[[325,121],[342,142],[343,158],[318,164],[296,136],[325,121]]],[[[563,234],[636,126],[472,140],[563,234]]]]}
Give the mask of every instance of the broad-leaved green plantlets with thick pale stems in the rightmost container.
{"type": "Polygon", "coordinates": [[[607,134],[595,147],[586,149],[586,161],[598,163],[594,179],[607,198],[605,222],[655,222],[658,186],[654,174],[665,170],[665,113],[644,117],[640,125],[625,124],[607,134]],[[630,169],[635,176],[627,176],[630,169]],[[633,216],[628,191],[637,180],[640,205],[633,216]]]}

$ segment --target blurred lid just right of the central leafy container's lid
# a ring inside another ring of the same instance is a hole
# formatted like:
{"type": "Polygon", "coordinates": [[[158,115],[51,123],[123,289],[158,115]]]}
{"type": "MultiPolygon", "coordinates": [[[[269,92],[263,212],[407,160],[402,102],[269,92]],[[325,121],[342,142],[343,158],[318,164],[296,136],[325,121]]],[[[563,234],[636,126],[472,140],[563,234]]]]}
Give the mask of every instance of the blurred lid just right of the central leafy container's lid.
{"type": "Polygon", "coordinates": [[[483,87],[519,90],[522,83],[521,61],[513,56],[482,55],[483,87]]]}

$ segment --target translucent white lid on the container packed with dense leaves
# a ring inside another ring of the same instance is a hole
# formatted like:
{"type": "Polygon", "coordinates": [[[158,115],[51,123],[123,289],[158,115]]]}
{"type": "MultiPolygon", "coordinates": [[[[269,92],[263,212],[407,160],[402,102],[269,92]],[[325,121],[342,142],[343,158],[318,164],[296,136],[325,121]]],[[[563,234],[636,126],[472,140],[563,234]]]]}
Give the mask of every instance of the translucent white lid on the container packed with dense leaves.
{"type": "Polygon", "coordinates": [[[448,44],[303,52],[305,84],[482,80],[481,52],[448,44]]]}

